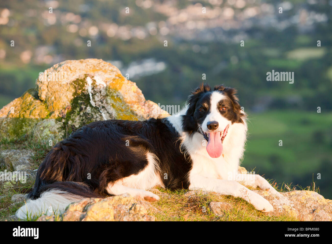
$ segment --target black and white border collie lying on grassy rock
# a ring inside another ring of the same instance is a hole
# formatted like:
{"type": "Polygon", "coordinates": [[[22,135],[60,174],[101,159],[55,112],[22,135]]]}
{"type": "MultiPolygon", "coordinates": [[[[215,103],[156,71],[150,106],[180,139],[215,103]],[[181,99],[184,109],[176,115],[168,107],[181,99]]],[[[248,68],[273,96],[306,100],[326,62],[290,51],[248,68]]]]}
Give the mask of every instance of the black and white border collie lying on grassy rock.
{"type": "Polygon", "coordinates": [[[237,177],[247,124],[235,93],[229,87],[212,90],[202,84],[177,115],[81,127],[47,154],[30,200],[17,216],[24,219],[50,207],[62,212],[83,198],[123,193],[156,201],[159,197],[147,191],[154,186],[214,191],[272,211],[267,200],[243,186],[279,194],[263,177],[237,177]]]}

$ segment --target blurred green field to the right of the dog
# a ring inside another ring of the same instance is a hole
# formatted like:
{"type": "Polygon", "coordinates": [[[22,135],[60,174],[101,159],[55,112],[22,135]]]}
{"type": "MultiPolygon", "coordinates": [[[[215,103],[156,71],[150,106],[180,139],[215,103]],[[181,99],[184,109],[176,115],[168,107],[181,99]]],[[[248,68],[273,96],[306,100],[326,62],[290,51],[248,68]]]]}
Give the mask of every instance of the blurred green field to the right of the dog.
{"type": "Polygon", "coordinates": [[[306,187],[314,181],[320,194],[331,199],[332,113],[248,114],[249,137],[242,166],[247,170],[256,167],[256,173],[277,183],[306,187]],[[279,140],[283,146],[279,146],[279,140]],[[321,174],[320,180],[317,173],[321,174]]]}

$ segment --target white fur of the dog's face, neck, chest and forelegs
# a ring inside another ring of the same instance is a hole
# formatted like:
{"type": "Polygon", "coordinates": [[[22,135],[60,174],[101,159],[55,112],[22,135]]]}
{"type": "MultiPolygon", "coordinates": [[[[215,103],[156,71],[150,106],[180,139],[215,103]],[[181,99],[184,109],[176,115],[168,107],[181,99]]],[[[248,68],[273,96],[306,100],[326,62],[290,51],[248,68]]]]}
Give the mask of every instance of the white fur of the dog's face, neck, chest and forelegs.
{"type": "MultiPolygon", "coordinates": [[[[220,130],[223,130],[229,124],[227,136],[223,141],[223,153],[219,158],[211,158],[206,150],[204,137],[200,133],[195,133],[189,137],[186,132],[181,129],[181,122],[178,116],[171,116],[168,120],[174,125],[180,134],[182,134],[183,145],[188,150],[193,160],[193,168],[189,175],[189,189],[206,191],[214,191],[223,195],[232,195],[240,197],[255,206],[256,209],[264,212],[273,211],[273,206],[263,197],[244,187],[235,180],[240,159],[243,156],[247,123],[231,124],[228,120],[221,116],[217,111],[217,103],[223,99],[223,95],[219,92],[213,92],[211,95],[211,112],[207,115],[202,124],[203,131],[207,131],[207,122],[217,121],[220,130]],[[235,179],[228,180],[229,175],[235,179]]],[[[186,109],[180,113],[185,114],[186,109]]],[[[255,180],[245,181],[244,183],[252,187],[260,187],[263,190],[270,190],[274,194],[279,194],[263,177],[255,175],[255,180]]]]}

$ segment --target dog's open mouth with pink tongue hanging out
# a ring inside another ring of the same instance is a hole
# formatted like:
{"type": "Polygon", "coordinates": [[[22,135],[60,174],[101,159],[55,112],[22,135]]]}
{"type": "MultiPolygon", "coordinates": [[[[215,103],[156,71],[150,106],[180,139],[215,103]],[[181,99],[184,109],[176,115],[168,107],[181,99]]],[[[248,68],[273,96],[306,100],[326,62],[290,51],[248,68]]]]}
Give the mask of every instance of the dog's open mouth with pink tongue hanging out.
{"type": "Polygon", "coordinates": [[[216,132],[203,132],[204,139],[207,140],[207,153],[211,158],[218,158],[221,156],[223,146],[222,142],[227,135],[229,125],[226,126],[224,131],[216,131],[216,132]]]}

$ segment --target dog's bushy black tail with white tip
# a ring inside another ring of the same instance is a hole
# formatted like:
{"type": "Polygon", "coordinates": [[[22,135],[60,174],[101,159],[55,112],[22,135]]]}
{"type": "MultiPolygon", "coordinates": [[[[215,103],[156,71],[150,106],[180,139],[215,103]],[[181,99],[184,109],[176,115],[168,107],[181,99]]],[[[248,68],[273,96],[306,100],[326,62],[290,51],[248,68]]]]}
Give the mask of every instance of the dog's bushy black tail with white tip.
{"type": "Polygon", "coordinates": [[[88,185],[71,181],[55,182],[45,186],[41,184],[37,189],[38,192],[35,188],[28,195],[31,199],[17,210],[18,218],[32,219],[41,215],[58,215],[63,213],[70,203],[84,198],[102,197],[94,193],[88,185]]]}

